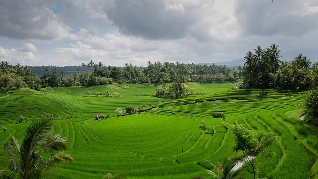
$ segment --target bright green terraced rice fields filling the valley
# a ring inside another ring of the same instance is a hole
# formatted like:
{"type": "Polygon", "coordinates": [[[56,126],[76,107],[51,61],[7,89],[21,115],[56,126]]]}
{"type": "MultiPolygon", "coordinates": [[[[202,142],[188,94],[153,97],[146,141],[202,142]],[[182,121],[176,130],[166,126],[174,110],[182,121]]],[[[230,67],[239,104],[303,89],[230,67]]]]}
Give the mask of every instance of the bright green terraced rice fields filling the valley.
{"type": "MultiPolygon", "coordinates": [[[[50,107],[53,112],[48,112],[74,115],[73,121],[53,121],[55,131],[68,139],[68,152],[75,162],[52,171],[47,177],[52,179],[102,179],[108,172],[125,173],[130,179],[209,178],[202,167],[206,159],[218,164],[225,157],[242,156],[233,151],[234,136],[222,122],[245,123],[250,129],[279,136],[277,143],[266,148],[274,155],[260,154],[255,159],[259,177],[318,179],[318,129],[299,120],[306,92],[230,89],[231,84],[188,83],[187,88],[201,95],[164,101],[150,97],[155,88],[143,85],[56,88],[47,89],[45,94],[23,89],[0,98],[0,124],[20,139],[26,124],[9,125],[14,118],[7,116],[22,114],[20,111],[25,116],[41,115],[50,107]],[[109,90],[113,97],[94,97],[86,90],[109,90]],[[39,104],[32,101],[41,101],[40,97],[48,100],[39,104]],[[117,107],[149,103],[158,107],[102,121],[80,121],[83,114],[103,110],[114,115],[117,107]],[[222,112],[227,118],[213,119],[207,110],[222,112]],[[200,121],[215,126],[214,133],[202,132],[200,121]]],[[[6,138],[7,134],[0,134],[0,140],[6,138]]],[[[5,157],[0,158],[0,169],[6,162],[5,157]]],[[[246,170],[241,176],[251,178],[252,174],[246,170]]]]}

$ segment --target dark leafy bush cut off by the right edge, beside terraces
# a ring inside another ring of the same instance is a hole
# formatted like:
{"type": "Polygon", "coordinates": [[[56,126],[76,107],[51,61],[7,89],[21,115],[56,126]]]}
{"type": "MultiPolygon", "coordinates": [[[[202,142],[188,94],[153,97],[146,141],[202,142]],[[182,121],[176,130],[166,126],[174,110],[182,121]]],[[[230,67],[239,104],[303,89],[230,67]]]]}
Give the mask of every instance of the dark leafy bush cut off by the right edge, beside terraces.
{"type": "Polygon", "coordinates": [[[312,90],[304,101],[306,117],[305,120],[318,126],[318,90],[312,90]]]}

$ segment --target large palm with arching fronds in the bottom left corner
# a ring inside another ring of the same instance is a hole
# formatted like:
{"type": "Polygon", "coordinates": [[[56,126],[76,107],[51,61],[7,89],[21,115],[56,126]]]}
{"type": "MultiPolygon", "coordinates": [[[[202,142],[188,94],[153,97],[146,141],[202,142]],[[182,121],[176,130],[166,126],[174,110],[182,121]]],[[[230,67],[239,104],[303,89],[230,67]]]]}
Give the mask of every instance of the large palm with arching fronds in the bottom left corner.
{"type": "MultiPolygon", "coordinates": [[[[6,131],[6,128],[0,126],[6,131]]],[[[26,135],[19,143],[10,134],[9,141],[4,143],[3,150],[9,157],[5,171],[0,171],[0,178],[39,179],[60,163],[72,162],[73,158],[64,152],[67,140],[52,132],[53,124],[49,120],[37,120],[26,127],[26,135]],[[21,146],[20,146],[21,144],[21,146]],[[44,152],[60,151],[44,158],[44,152]]]]}

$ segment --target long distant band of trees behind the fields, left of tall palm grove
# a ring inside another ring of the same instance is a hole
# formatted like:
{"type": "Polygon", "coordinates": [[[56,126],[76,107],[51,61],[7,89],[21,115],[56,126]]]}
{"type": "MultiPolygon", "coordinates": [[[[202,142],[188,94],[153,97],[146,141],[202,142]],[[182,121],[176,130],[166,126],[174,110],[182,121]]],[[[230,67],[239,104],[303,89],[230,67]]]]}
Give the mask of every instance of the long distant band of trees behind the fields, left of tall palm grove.
{"type": "Polygon", "coordinates": [[[234,69],[219,65],[196,65],[170,62],[148,62],[147,67],[137,67],[125,64],[124,67],[104,66],[101,62],[90,61],[87,65],[81,64],[79,69],[88,69],[86,72],[65,75],[63,71],[45,68],[41,76],[32,76],[32,70],[27,66],[0,63],[1,91],[11,88],[30,87],[39,90],[41,87],[69,87],[105,85],[111,83],[149,83],[163,85],[169,82],[180,83],[189,81],[235,81],[239,73],[234,69]],[[94,69],[93,72],[91,69],[94,69]]]}

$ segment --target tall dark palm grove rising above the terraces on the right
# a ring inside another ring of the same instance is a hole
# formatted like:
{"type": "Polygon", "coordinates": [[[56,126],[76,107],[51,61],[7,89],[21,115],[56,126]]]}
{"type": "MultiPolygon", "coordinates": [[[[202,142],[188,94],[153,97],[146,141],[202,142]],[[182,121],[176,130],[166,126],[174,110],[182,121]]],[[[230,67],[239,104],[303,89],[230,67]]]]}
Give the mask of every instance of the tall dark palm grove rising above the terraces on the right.
{"type": "Polygon", "coordinates": [[[280,61],[278,45],[247,52],[242,70],[243,83],[249,89],[311,89],[318,86],[318,63],[298,54],[290,62],[280,61]]]}

